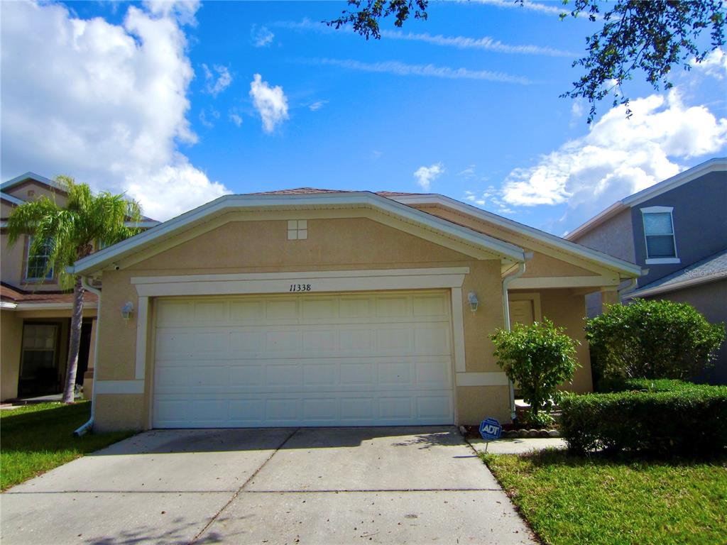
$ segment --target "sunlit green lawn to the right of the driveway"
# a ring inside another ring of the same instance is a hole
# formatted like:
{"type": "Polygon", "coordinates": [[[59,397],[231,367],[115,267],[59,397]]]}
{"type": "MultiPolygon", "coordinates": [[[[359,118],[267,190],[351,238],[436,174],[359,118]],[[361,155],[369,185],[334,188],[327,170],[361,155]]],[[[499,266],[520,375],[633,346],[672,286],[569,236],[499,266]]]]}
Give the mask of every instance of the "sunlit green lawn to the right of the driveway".
{"type": "Polygon", "coordinates": [[[727,458],[481,457],[547,544],[727,542],[727,458]]]}

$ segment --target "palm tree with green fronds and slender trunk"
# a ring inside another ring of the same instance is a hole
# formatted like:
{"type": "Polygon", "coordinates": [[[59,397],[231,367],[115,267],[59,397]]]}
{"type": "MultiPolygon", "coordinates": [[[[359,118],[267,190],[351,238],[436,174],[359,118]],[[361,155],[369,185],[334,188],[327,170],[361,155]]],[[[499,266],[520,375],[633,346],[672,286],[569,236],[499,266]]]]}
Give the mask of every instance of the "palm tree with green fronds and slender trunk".
{"type": "Polygon", "coordinates": [[[65,206],[45,196],[17,206],[7,220],[8,246],[26,234],[33,235],[28,255],[47,254],[44,277],[54,270],[61,288],[73,287],[71,340],[65,371],[63,403],[73,403],[76,367],[79,363],[84,286],[79,275],[68,274],[65,267],[91,254],[95,248],[110,246],[139,232],[129,227],[142,219],[136,201],[124,195],[103,192],[94,195],[87,184],[59,176],[55,181],[68,193],[65,206]]]}

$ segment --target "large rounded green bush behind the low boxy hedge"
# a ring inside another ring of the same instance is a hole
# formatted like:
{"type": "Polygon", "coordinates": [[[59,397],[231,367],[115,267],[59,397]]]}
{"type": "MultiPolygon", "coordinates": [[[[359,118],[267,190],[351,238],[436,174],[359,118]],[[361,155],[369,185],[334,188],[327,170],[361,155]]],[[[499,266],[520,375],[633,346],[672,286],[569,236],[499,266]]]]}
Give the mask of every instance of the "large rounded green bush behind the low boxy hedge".
{"type": "Polygon", "coordinates": [[[637,299],[588,320],[596,373],[604,378],[689,379],[710,365],[725,339],[694,307],[637,299]]]}

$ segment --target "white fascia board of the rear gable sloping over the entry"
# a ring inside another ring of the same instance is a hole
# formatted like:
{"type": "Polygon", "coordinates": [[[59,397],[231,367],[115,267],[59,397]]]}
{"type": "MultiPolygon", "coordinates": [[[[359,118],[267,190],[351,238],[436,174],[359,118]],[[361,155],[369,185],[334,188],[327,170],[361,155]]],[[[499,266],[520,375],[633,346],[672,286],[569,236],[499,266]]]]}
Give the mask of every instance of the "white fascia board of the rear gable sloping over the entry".
{"type": "Polygon", "coordinates": [[[521,233],[524,236],[533,238],[534,240],[545,243],[549,246],[555,246],[556,248],[569,252],[570,254],[575,254],[582,259],[596,262],[602,267],[617,270],[619,273],[622,273],[622,275],[629,278],[641,275],[641,267],[634,263],[629,263],[623,259],[603,254],[601,251],[586,248],[578,243],[566,241],[561,237],[545,233],[545,231],[541,231],[535,227],[514,222],[512,219],[507,219],[505,217],[498,216],[497,214],[493,214],[492,212],[479,209],[476,206],[456,201],[455,199],[446,197],[445,195],[405,195],[403,197],[396,197],[395,200],[404,204],[440,204],[447,208],[454,209],[455,211],[462,212],[462,214],[478,217],[494,225],[511,229],[516,233],[521,233]]]}

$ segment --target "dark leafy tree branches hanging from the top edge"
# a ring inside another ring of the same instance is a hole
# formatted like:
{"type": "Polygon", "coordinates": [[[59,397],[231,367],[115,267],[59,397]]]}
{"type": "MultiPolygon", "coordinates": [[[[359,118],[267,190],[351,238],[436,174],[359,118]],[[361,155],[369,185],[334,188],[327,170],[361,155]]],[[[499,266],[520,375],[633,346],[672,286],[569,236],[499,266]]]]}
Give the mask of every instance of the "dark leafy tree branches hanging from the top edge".
{"type": "MultiPolygon", "coordinates": [[[[348,6],[340,17],[324,23],[334,28],[351,25],[367,40],[381,39],[379,22],[387,17],[393,17],[398,28],[412,15],[420,20],[428,17],[427,0],[349,0],[348,6]]],[[[561,20],[585,16],[592,23],[603,22],[600,31],[587,36],[586,54],[573,61],[583,75],[561,94],[590,103],[589,124],[597,103],[609,95],[614,96],[613,105],[624,105],[630,116],[622,85],[639,71],[657,91],[670,89],[675,68],[689,70],[692,62],[701,62],[725,44],[723,0],[563,0],[563,9],[561,20]],[[710,40],[702,45],[699,39],[705,31],[710,40]]]]}

